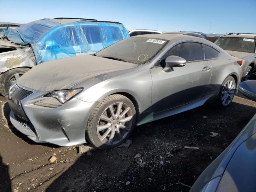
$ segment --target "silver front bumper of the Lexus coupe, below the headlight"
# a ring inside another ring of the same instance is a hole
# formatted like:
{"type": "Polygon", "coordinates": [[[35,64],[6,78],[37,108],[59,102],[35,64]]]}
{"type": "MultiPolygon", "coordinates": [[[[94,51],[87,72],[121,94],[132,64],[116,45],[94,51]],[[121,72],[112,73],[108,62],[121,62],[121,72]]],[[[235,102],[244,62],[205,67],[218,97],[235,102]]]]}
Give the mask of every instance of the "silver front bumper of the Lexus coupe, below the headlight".
{"type": "Polygon", "coordinates": [[[59,146],[85,143],[87,121],[97,103],[72,98],[56,108],[35,105],[45,94],[46,92],[33,91],[20,101],[26,120],[20,118],[17,112],[15,114],[15,106],[9,104],[13,126],[35,142],[59,146]]]}

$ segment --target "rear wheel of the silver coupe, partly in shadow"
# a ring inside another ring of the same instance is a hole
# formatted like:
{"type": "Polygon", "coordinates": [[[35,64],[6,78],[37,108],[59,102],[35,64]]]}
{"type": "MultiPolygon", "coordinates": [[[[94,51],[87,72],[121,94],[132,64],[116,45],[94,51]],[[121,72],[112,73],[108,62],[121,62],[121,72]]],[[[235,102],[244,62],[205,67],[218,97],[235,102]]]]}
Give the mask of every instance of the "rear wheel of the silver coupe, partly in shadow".
{"type": "Polygon", "coordinates": [[[236,81],[232,76],[228,76],[221,85],[216,101],[217,106],[220,108],[229,106],[234,98],[235,91],[236,81]]]}

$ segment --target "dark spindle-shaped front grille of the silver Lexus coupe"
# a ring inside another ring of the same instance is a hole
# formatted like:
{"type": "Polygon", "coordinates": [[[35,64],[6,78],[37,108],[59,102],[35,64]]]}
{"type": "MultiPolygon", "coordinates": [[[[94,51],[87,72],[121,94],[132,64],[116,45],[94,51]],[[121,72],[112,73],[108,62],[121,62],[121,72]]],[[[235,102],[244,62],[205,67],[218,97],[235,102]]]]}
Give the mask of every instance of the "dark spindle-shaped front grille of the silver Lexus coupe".
{"type": "Polygon", "coordinates": [[[29,119],[22,108],[21,100],[32,93],[32,91],[22,89],[16,85],[14,86],[14,88],[12,88],[11,97],[9,96],[10,109],[14,112],[16,116],[26,121],[29,121],[29,119]]]}

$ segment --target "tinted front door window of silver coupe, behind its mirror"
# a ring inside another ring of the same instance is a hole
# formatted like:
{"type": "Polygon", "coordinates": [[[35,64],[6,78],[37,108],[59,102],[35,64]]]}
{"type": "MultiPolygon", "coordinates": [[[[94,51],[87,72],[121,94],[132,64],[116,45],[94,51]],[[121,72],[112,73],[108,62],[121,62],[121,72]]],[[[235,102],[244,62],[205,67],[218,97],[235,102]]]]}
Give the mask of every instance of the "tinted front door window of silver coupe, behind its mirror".
{"type": "Polygon", "coordinates": [[[160,59],[160,65],[165,65],[165,59],[168,56],[175,55],[186,59],[187,62],[204,60],[204,49],[201,43],[184,42],[170,48],[160,59]]]}

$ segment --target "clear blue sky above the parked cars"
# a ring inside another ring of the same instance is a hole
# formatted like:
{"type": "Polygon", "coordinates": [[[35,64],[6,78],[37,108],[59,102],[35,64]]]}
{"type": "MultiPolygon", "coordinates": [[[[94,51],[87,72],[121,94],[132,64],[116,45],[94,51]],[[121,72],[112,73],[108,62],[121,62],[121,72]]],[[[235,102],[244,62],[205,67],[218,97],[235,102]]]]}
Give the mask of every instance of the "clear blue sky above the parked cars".
{"type": "Polygon", "coordinates": [[[0,0],[0,13],[0,22],[76,17],[126,28],[256,33],[256,0],[0,0]]]}

